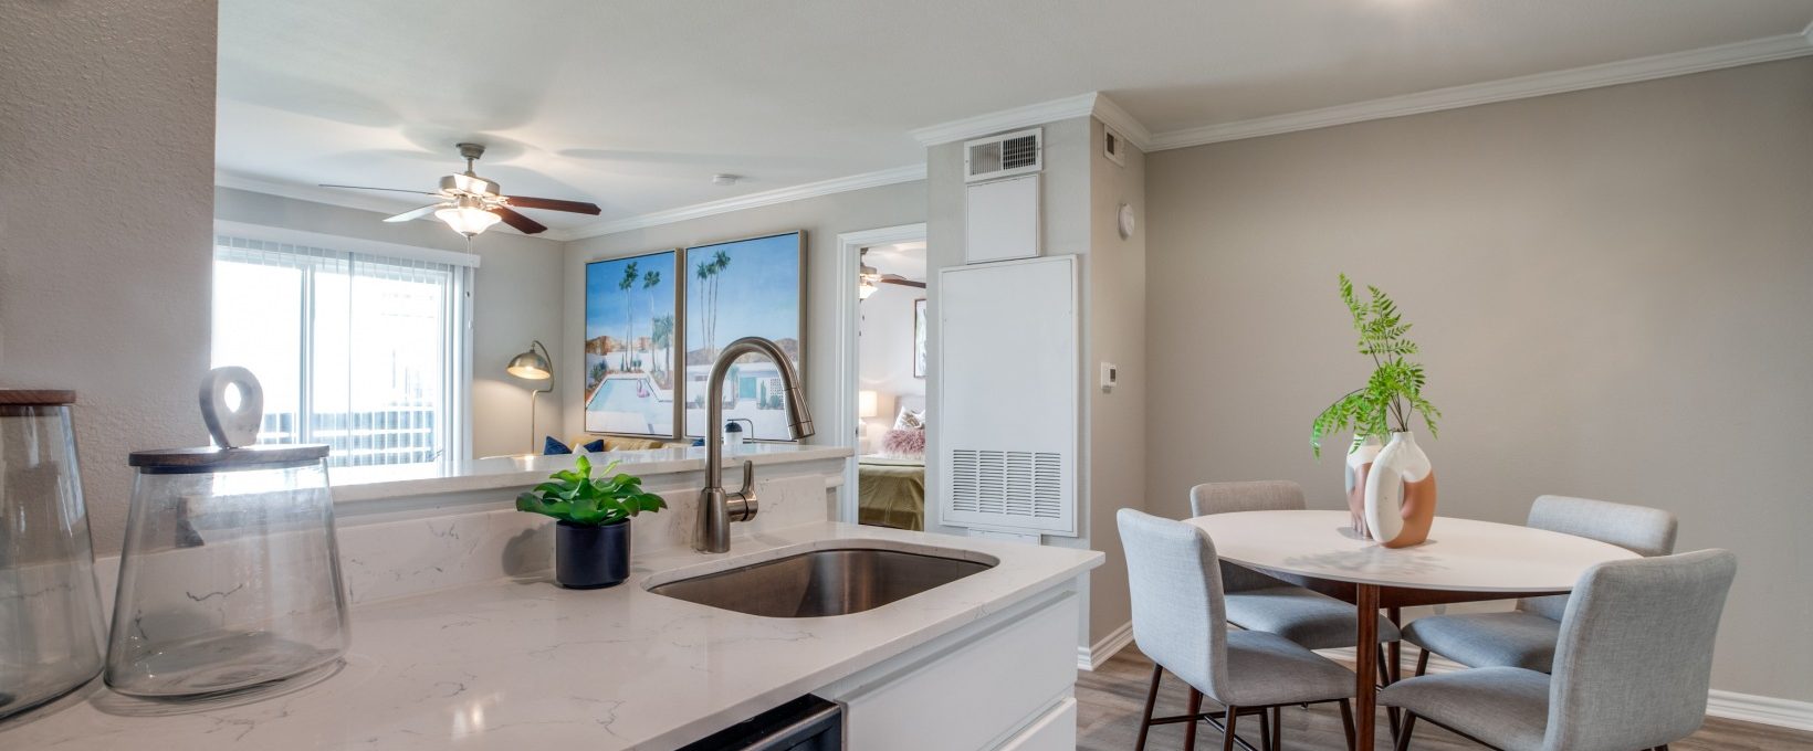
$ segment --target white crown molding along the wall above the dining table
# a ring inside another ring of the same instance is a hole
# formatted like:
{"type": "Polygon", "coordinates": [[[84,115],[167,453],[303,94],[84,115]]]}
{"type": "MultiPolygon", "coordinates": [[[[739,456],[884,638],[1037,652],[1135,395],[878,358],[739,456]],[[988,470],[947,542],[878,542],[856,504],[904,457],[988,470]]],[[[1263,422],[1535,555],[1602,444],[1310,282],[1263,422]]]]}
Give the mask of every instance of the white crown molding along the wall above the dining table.
{"type": "MultiPolygon", "coordinates": [[[[1367,119],[1385,119],[1385,118],[1401,118],[1407,114],[1440,112],[1461,107],[1488,105],[1494,101],[1525,100],[1532,96],[1563,94],[1570,90],[1610,87],[1619,83],[1637,83],[1655,78],[1686,76],[1692,72],[1766,63],[1771,60],[1788,60],[1806,54],[1813,54],[1813,25],[1808,25],[1808,29],[1804,29],[1798,34],[1764,36],[1759,40],[1690,49],[1684,52],[1653,54],[1648,58],[1621,60],[1615,63],[1586,65],[1554,72],[1537,72],[1534,76],[1505,78],[1485,83],[1469,83],[1469,85],[1434,89],[1416,94],[1389,96],[1383,100],[1358,101],[1351,105],[1336,105],[1304,112],[1278,114],[1269,118],[1242,119],[1235,123],[1217,123],[1195,128],[1168,130],[1151,136],[1151,148],[1148,150],[1200,147],[1206,143],[1238,141],[1244,138],[1327,128],[1333,125],[1362,123],[1367,119]]],[[[1131,141],[1133,138],[1128,136],[1128,139],[1131,141]]]]}

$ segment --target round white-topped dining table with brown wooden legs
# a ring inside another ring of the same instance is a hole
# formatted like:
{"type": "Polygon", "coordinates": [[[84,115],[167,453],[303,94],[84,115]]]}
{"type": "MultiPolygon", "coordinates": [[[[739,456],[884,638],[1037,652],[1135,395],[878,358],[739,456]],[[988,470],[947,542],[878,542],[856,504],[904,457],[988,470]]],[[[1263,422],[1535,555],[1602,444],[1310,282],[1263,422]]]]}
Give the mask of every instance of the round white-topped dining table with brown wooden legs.
{"type": "MultiPolygon", "coordinates": [[[[1209,532],[1229,563],[1354,604],[1354,731],[1360,751],[1376,733],[1378,612],[1400,623],[1400,608],[1559,595],[1594,565],[1637,557],[1597,539],[1530,527],[1438,516],[1429,541],[1387,548],[1360,537],[1345,510],[1247,510],[1188,519],[1209,532]]],[[[1398,644],[1385,661],[1401,671],[1398,644]]]]}

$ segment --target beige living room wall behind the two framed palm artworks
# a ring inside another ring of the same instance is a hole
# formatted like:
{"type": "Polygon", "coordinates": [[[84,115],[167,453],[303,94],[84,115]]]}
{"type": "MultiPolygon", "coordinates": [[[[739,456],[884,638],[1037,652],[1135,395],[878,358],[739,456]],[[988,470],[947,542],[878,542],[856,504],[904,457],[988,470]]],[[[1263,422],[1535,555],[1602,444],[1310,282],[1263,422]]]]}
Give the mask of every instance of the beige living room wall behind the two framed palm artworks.
{"type": "MultiPolygon", "coordinates": [[[[912,181],[571,241],[566,244],[562,261],[564,328],[558,342],[546,344],[555,353],[560,380],[582,384],[584,358],[580,353],[586,337],[586,262],[589,261],[805,230],[807,364],[801,376],[805,378],[807,405],[812,413],[830,414],[836,396],[830,384],[838,373],[836,299],[838,295],[854,295],[856,286],[854,279],[838,279],[838,233],[921,221],[925,221],[925,183],[912,181]]],[[[582,387],[569,387],[560,395],[566,425],[575,433],[586,425],[580,405],[582,391],[582,387]]],[[[834,442],[829,433],[834,429],[819,420],[818,436],[812,442],[834,442]]],[[[856,425],[848,429],[854,433],[856,425]]]]}

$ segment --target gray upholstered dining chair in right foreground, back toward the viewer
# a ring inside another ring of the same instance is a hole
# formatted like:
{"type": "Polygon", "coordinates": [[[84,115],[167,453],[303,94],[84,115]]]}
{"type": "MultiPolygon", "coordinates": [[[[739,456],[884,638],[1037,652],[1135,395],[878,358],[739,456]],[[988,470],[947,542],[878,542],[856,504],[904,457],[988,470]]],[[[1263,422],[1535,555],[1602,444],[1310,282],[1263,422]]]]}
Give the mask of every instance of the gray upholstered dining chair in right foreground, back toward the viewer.
{"type": "Polygon", "coordinates": [[[1398,751],[1423,718],[1503,751],[1668,749],[1706,718],[1711,642],[1737,557],[1726,550],[1601,563],[1561,617],[1556,671],[1476,668],[1400,680],[1398,751]]]}

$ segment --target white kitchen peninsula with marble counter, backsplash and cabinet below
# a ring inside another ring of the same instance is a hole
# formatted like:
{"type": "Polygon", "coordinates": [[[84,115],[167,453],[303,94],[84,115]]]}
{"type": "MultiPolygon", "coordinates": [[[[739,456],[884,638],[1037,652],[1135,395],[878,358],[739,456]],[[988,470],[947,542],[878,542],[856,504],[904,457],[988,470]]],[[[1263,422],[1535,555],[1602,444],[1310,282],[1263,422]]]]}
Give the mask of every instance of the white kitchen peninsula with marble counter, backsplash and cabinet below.
{"type": "MultiPolygon", "coordinates": [[[[609,590],[551,583],[548,519],[497,501],[448,512],[433,494],[372,505],[341,525],[355,606],[337,673],[192,706],[91,686],[0,726],[0,747],[673,749],[807,693],[843,704],[848,747],[1070,747],[1075,579],[1102,556],[827,521],[843,456],[771,451],[761,514],[736,525],[720,556],[685,545],[696,461],[625,461],[671,509],[635,521],[631,579],[609,590]],[[647,592],[850,547],[994,565],[832,617],[745,615],[647,592]]],[[[484,492],[470,478],[433,481],[484,492]]]]}

